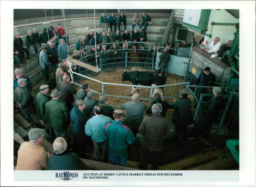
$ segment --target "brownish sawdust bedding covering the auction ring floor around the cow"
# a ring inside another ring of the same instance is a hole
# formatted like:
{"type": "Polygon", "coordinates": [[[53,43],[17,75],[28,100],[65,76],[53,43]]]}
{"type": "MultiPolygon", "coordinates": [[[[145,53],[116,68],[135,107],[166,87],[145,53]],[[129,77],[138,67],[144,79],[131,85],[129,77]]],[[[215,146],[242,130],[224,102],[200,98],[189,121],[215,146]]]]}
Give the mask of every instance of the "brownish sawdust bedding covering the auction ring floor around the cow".
{"type": "MultiPolygon", "coordinates": [[[[124,81],[122,82],[122,74],[124,71],[151,71],[151,69],[142,69],[142,68],[118,68],[118,69],[110,69],[110,70],[102,70],[98,73],[94,73],[92,75],[89,75],[89,77],[99,80],[104,83],[119,83],[119,84],[132,84],[130,81],[124,81]]],[[[153,70],[154,71],[154,70],[153,70]]],[[[171,73],[166,74],[167,79],[165,84],[175,84],[175,83],[182,83],[184,81],[183,76],[174,75],[171,73]]],[[[90,79],[82,78],[78,81],[79,84],[83,85],[84,83],[89,84],[90,89],[95,90],[97,92],[101,93],[102,85],[101,83],[94,82],[90,79]]],[[[79,90],[81,87],[75,86],[76,90],[79,90]]],[[[177,86],[168,86],[164,87],[164,94],[165,96],[171,96],[171,95],[178,95],[180,94],[180,90],[184,89],[182,85],[177,86]]],[[[131,97],[131,91],[132,87],[124,87],[124,86],[115,86],[115,85],[104,85],[104,94],[108,95],[117,95],[117,96],[126,96],[131,97]]],[[[136,90],[134,93],[138,93],[140,95],[140,98],[149,98],[150,96],[150,89],[147,88],[139,88],[139,92],[136,90]]],[[[76,95],[74,95],[76,97],[76,95]]],[[[96,94],[95,99],[99,99],[100,95],[96,94]]],[[[178,97],[171,97],[165,99],[169,104],[172,103],[174,100],[176,100],[178,97]]],[[[193,97],[189,95],[189,98],[193,101],[193,97]]],[[[108,97],[108,102],[110,105],[115,106],[121,106],[122,103],[131,101],[130,98],[121,98],[121,97],[108,97]]],[[[148,103],[148,101],[140,100],[141,102],[144,102],[147,107],[151,105],[151,101],[148,103]]],[[[114,107],[115,108],[115,107],[114,107]]],[[[120,109],[120,108],[115,108],[120,109]]],[[[167,114],[172,114],[173,110],[169,109],[167,111],[167,114]]],[[[124,111],[125,114],[125,111],[124,111]]],[[[146,116],[146,111],[144,112],[144,117],[146,116]]],[[[171,116],[166,117],[167,120],[171,120],[171,116]]]]}

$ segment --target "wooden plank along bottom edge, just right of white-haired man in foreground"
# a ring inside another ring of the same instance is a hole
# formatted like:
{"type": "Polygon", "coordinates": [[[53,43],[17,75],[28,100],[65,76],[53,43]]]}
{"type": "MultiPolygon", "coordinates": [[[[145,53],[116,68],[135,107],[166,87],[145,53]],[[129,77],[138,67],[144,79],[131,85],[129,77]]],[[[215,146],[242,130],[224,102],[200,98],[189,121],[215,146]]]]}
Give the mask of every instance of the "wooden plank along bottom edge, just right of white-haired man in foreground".
{"type": "Polygon", "coordinates": [[[81,160],[87,165],[89,169],[92,169],[92,170],[139,170],[136,168],[129,168],[125,166],[98,162],[98,161],[88,160],[84,158],[81,158],[81,160]]]}

